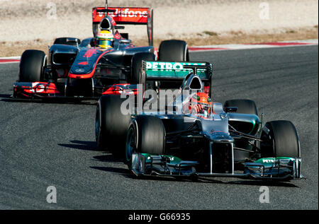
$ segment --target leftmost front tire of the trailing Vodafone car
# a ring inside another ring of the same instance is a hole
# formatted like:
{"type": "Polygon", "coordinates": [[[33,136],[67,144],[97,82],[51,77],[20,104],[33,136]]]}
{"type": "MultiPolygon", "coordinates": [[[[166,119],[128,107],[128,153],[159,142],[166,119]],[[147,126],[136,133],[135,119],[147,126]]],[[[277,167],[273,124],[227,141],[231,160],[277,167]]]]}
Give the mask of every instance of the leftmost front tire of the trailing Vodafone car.
{"type": "Polygon", "coordinates": [[[44,67],[47,64],[45,52],[27,49],[21,55],[19,81],[39,82],[44,80],[44,67]]]}

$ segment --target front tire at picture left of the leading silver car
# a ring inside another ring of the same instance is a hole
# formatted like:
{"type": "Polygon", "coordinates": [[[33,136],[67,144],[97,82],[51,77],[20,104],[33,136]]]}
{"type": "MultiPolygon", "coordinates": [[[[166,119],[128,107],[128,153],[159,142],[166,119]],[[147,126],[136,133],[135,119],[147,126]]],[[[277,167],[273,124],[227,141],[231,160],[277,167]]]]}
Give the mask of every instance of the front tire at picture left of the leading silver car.
{"type": "Polygon", "coordinates": [[[158,117],[138,115],[130,122],[125,147],[125,162],[130,168],[133,153],[164,154],[165,128],[158,117]]]}

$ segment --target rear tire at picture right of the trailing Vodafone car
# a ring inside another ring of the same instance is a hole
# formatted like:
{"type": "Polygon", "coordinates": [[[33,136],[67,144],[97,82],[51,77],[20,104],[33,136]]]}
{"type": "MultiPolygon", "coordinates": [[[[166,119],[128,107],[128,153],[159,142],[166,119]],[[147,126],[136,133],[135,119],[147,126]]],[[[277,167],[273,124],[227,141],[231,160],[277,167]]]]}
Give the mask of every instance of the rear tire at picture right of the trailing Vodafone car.
{"type": "Polygon", "coordinates": [[[189,49],[184,40],[164,40],[159,45],[159,61],[189,61],[189,49]]]}

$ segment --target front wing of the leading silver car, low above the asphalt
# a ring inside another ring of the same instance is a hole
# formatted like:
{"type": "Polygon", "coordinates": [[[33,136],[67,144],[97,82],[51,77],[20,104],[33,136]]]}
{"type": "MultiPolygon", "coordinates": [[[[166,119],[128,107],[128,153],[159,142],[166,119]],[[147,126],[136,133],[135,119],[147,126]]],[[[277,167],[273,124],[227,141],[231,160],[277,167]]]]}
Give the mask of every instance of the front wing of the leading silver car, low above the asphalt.
{"type": "Polygon", "coordinates": [[[245,163],[242,173],[196,172],[196,165],[196,161],[184,161],[172,155],[133,153],[131,170],[138,177],[236,177],[277,181],[305,178],[300,173],[301,158],[261,158],[254,163],[245,163]]]}

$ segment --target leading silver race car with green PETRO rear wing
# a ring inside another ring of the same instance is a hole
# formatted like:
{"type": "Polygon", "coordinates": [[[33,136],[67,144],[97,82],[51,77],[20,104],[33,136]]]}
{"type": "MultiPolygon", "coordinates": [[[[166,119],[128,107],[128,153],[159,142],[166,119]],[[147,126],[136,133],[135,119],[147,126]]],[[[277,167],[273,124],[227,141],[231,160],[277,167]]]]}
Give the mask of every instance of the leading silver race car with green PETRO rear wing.
{"type": "Polygon", "coordinates": [[[161,90],[156,96],[142,85],[114,86],[96,109],[99,148],[121,155],[135,175],[303,178],[298,134],[291,122],[263,124],[252,100],[212,102],[210,114],[185,110],[194,94],[211,95],[205,88],[211,83],[211,64],[143,61],[142,74],[147,81],[179,82],[181,87],[161,107],[161,90]]]}

